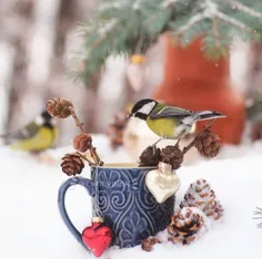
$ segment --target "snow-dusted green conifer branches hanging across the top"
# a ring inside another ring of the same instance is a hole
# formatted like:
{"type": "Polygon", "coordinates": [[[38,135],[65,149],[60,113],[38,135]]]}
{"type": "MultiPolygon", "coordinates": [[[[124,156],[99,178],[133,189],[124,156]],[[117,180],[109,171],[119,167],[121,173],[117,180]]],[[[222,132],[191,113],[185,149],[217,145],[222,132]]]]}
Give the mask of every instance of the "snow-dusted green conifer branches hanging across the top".
{"type": "Polygon", "coordinates": [[[89,81],[109,55],[145,53],[162,33],[181,37],[182,44],[202,35],[204,53],[219,58],[233,34],[262,37],[261,18],[261,0],[102,0],[85,24],[80,76],[89,81]]]}

